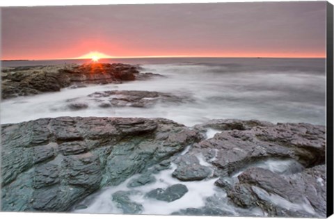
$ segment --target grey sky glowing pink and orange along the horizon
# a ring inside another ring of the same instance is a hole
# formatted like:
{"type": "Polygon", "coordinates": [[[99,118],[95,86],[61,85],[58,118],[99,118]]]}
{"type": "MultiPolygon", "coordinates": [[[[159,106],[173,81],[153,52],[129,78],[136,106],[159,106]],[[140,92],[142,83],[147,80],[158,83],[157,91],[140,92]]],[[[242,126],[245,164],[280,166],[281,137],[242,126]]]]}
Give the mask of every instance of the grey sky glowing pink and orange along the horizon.
{"type": "Polygon", "coordinates": [[[326,1],[1,8],[1,59],[325,57],[326,1]]]}

